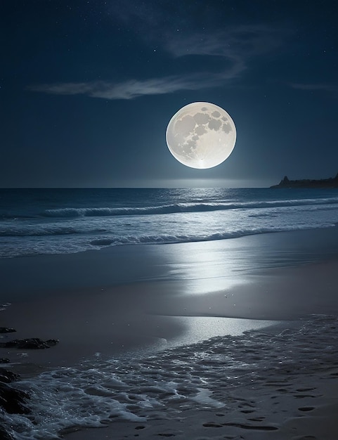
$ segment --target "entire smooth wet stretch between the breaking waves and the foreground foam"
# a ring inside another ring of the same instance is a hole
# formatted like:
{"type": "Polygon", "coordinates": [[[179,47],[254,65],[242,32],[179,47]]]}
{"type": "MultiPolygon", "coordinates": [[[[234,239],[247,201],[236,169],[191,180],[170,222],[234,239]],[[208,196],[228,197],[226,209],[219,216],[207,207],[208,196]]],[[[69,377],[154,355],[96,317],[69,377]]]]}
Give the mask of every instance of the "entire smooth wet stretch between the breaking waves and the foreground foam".
{"type": "MultiPolygon", "coordinates": [[[[60,339],[48,355],[29,351],[25,361],[41,362],[46,355],[49,365],[58,360],[68,365],[98,352],[117,355],[197,342],[194,332],[208,339],[233,331],[222,318],[263,325],[311,313],[338,314],[335,284],[327,281],[337,273],[337,231],[2,260],[8,296],[1,302],[13,299],[0,312],[1,326],[18,330],[10,337],[60,339]],[[204,324],[208,318],[212,325],[204,324]]],[[[7,357],[4,350],[0,357],[7,357]]]]}

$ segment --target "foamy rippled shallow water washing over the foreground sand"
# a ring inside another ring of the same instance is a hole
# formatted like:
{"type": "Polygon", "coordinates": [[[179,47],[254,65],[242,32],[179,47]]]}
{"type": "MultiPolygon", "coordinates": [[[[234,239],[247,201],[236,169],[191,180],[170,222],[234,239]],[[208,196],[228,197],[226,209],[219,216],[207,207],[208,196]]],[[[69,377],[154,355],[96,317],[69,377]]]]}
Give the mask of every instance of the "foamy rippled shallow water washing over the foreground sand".
{"type": "MultiPolygon", "coordinates": [[[[223,415],[239,410],[249,418],[266,393],[270,399],[287,393],[294,401],[316,397],[318,378],[337,380],[338,320],[312,316],[285,324],[143,358],[97,354],[72,368],[21,380],[18,387],[30,389],[27,405],[32,415],[4,414],[4,426],[15,439],[48,440],[71,427],[176,420],[194,408],[214,408],[223,415]]],[[[252,425],[278,429],[274,417],[271,413],[269,420],[248,421],[248,429],[252,425]]]]}

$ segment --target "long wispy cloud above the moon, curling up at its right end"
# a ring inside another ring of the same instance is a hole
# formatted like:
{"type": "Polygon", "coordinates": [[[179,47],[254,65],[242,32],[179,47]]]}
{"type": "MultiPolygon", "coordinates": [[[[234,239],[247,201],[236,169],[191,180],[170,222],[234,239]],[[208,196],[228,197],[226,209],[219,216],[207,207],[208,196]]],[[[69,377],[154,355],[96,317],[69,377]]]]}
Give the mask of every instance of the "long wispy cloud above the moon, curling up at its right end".
{"type": "MultiPolygon", "coordinates": [[[[146,95],[161,95],[183,90],[206,89],[230,84],[247,69],[249,59],[271,52],[285,39],[285,31],[264,26],[241,26],[227,32],[191,34],[188,37],[164,39],[164,49],[171,57],[217,56],[223,61],[219,72],[193,72],[162,78],[128,79],[125,82],[67,82],[35,84],[30,91],[57,95],[86,95],[93,98],[133,99],[146,95]]],[[[201,63],[202,66],[207,65],[201,63]]]]}

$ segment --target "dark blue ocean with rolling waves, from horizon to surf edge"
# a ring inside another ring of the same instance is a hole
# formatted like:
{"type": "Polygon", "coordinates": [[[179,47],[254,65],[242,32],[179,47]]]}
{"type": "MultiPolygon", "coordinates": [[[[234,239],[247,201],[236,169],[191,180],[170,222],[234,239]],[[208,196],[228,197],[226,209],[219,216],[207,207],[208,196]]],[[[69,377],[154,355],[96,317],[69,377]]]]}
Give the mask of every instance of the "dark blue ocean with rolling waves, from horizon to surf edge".
{"type": "Polygon", "coordinates": [[[338,190],[2,189],[0,257],[226,240],[337,221],[338,190]]]}

